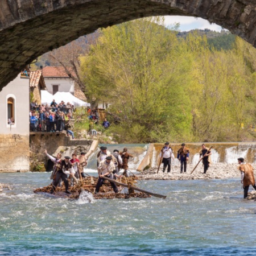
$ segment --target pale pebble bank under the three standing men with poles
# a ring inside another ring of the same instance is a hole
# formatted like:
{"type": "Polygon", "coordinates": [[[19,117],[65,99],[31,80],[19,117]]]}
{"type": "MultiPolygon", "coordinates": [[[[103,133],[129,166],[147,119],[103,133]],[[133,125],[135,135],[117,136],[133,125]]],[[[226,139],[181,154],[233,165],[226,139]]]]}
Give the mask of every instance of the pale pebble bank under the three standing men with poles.
{"type": "MultiPolygon", "coordinates": [[[[255,168],[255,165],[253,165],[255,168]]],[[[150,168],[141,172],[138,176],[143,180],[201,180],[201,179],[228,179],[232,177],[240,177],[240,171],[238,171],[238,164],[226,164],[216,163],[212,164],[207,174],[203,174],[204,168],[202,164],[197,166],[196,170],[191,174],[193,168],[192,164],[187,165],[187,172],[180,173],[180,166],[172,166],[171,172],[167,174],[163,173],[163,167],[161,166],[158,174],[156,174],[158,168],[150,168]]],[[[256,172],[255,172],[256,174],[256,172]]]]}

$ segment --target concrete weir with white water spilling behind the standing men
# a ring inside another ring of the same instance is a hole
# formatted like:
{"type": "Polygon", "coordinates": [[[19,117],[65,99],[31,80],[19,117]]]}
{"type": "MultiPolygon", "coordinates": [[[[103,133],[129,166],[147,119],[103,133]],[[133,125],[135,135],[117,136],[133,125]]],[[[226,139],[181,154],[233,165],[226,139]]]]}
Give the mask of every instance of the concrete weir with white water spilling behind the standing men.
{"type": "MultiPolygon", "coordinates": [[[[175,160],[172,162],[174,165],[179,164],[177,160],[177,151],[181,143],[171,143],[170,146],[174,151],[175,160]]],[[[194,164],[199,161],[199,151],[201,150],[202,143],[186,143],[189,148],[189,164],[194,164]]],[[[237,158],[243,157],[246,162],[256,162],[256,142],[212,142],[205,143],[207,147],[212,148],[212,163],[237,163],[237,158]]],[[[156,167],[159,164],[159,154],[164,143],[151,143],[148,146],[147,154],[144,156],[137,171],[143,171],[147,168],[156,167]]]]}

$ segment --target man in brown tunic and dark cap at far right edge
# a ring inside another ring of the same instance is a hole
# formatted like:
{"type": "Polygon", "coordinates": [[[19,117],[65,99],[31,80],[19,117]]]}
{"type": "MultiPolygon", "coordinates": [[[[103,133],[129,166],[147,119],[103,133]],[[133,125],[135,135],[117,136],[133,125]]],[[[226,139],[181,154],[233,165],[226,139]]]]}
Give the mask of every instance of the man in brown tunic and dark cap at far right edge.
{"type": "Polygon", "coordinates": [[[253,174],[253,167],[249,163],[245,163],[245,159],[238,158],[238,170],[241,172],[241,183],[243,184],[243,198],[246,199],[248,196],[248,190],[250,185],[256,190],[255,179],[253,174]]]}

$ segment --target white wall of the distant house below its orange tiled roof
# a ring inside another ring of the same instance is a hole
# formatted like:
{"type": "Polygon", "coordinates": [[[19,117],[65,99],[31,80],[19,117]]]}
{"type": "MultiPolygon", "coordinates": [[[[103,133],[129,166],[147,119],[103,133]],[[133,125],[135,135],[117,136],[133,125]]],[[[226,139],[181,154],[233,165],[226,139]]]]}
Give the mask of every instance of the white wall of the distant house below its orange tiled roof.
{"type": "Polygon", "coordinates": [[[54,79],[44,77],[46,87],[49,93],[53,94],[53,85],[59,85],[59,92],[75,93],[75,81],[73,79],[54,79]]]}

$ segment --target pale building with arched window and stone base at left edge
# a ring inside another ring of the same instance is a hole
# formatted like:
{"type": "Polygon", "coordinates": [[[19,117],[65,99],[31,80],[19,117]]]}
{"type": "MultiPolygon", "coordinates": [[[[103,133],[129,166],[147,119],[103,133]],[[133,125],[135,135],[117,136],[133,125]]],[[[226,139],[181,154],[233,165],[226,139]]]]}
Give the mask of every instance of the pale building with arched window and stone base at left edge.
{"type": "Polygon", "coordinates": [[[0,92],[0,172],[30,168],[29,82],[18,75],[0,92]]]}

